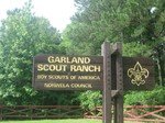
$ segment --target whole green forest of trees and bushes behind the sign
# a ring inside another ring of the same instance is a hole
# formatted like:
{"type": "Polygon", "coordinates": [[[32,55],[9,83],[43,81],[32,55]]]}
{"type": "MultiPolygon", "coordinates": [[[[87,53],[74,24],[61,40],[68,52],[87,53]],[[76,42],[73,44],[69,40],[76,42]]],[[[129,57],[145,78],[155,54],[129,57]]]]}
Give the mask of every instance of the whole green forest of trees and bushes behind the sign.
{"type": "Polygon", "coordinates": [[[165,1],[75,0],[77,12],[59,33],[36,16],[29,1],[8,11],[0,25],[0,104],[101,104],[100,91],[36,91],[32,64],[36,54],[100,55],[101,44],[122,42],[123,56],[152,57],[155,89],[127,91],[124,104],[165,104],[165,1]]]}

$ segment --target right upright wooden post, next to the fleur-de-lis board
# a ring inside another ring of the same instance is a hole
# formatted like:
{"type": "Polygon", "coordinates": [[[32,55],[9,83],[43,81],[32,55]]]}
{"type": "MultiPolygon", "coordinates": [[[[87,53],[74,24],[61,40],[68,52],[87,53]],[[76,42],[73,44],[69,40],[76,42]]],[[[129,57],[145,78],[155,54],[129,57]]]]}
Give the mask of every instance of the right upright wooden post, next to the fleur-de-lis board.
{"type": "Polygon", "coordinates": [[[117,91],[114,97],[114,123],[123,123],[123,67],[122,67],[122,44],[116,43],[116,69],[117,69],[117,91]]]}

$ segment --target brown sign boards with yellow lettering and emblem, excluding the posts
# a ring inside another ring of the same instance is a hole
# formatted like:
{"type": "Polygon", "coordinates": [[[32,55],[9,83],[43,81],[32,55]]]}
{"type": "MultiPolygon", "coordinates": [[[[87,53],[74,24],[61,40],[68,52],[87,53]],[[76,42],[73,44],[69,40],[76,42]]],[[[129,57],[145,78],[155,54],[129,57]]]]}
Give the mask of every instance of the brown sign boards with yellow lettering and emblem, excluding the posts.
{"type": "MultiPolygon", "coordinates": [[[[152,90],[154,63],[146,57],[122,57],[123,90],[152,90]]],[[[117,62],[111,58],[112,90],[117,90],[117,62]]],[[[33,87],[37,90],[102,90],[102,56],[40,54],[33,63],[33,87]]]]}

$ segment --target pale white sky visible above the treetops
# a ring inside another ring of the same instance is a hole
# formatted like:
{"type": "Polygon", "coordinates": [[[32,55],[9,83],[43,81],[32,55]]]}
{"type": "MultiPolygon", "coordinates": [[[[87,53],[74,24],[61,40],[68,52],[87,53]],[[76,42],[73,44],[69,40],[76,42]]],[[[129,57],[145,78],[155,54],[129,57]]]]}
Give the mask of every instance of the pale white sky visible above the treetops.
{"type": "MultiPolygon", "coordinates": [[[[28,0],[0,0],[0,20],[7,18],[7,11],[22,8],[28,0]]],[[[61,32],[70,23],[70,16],[76,12],[74,0],[32,0],[33,12],[44,16],[61,32]]]]}

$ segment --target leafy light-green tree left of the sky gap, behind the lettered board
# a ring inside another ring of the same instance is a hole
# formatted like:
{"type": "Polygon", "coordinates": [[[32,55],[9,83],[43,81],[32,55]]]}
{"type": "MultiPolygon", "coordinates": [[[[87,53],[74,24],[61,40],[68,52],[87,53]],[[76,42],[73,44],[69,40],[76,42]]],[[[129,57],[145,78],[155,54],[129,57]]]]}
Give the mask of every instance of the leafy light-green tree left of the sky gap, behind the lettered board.
{"type": "MultiPolygon", "coordinates": [[[[43,99],[45,100],[43,97],[51,93],[37,92],[32,88],[32,63],[33,56],[38,53],[61,53],[61,34],[46,19],[35,16],[31,9],[32,4],[29,2],[22,9],[8,11],[8,18],[1,22],[2,104],[42,104],[43,99]]],[[[46,98],[54,100],[50,97],[46,98]]]]}

